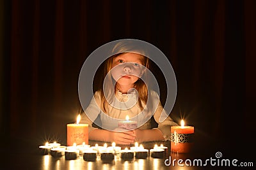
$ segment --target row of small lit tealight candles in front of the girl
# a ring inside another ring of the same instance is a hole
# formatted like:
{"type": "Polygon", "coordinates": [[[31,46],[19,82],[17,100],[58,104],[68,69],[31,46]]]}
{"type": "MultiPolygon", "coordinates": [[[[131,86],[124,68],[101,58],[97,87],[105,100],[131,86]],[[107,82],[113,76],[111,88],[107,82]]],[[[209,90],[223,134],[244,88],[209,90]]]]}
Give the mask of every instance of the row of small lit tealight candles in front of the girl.
{"type": "Polygon", "coordinates": [[[112,146],[107,146],[105,143],[104,146],[90,146],[83,143],[83,145],[73,146],[61,146],[60,143],[45,143],[43,146],[39,146],[42,154],[47,155],[51,154],[52,157],[62,157],[65,155],[66,160],[74,160],[83,155],[83,159],[86,161],[95,161],[99,155],[101,160],[113,160],[115,155],[119,155],[122,159],[146,159],[149,155],[153,158],[164,158],[167,155],[168,147],[166,146],[157,146],[147,150],[142,145],[138,145],[136,142],[134,146],[131,146],[129,149],[121,149],[120,146],[116,146],[115,142],[112,143],[112,146]]]}

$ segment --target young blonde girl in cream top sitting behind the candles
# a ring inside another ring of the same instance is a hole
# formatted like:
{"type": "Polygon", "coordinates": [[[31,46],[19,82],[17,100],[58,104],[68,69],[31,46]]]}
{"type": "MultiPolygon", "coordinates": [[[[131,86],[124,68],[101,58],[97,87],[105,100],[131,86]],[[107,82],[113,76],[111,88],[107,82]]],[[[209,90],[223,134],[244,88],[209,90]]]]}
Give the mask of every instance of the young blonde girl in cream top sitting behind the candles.
{"type": "Polygon", "coordinates": [[[120,145],[170,139],[170,126],[177,124],[170,117],[159,122],[162,112],[166,113],[159,96],[150,89],[145,50],[125,41],[116,44],[113,53],[104,62],[102,89],[95,92],[81,121],[89,125],[89,139],[120,145]],[[92,127],[98,115],[102,129],[92,127]],[[125,120],[127,115],[136,120],[138,128],[127,131],[118,127],[118,121],[125,120]],[[154,129],[150,124],[153,115],[158,124],[154,129]]]}

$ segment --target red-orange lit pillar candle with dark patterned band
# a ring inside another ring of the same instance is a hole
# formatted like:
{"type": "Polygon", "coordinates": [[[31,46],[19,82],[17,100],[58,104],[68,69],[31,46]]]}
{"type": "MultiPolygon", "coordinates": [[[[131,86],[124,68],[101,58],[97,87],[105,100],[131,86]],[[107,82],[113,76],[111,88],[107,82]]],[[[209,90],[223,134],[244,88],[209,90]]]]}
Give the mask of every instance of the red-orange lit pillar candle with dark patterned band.
{"type": "Polygon", "coordinates": [[[171,152],[188,153],[193,145],[193,126],[184,126],[184,120],[181,125],[171,127],[171,152]]]}

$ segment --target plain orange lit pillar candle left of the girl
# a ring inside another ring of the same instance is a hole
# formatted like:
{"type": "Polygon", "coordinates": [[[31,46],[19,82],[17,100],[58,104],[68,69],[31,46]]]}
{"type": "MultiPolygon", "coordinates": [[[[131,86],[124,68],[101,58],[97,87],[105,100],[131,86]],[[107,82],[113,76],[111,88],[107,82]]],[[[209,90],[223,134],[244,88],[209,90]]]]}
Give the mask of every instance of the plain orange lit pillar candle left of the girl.
{"type": "Polygon", "coordinates": [[[88,145],[88,124],[79,124],[81,116],[77,116],[76,124],[67,124],[67,146],[77,143],[81,145],[83,142],[88,145]]]}

